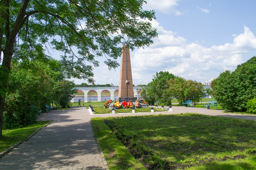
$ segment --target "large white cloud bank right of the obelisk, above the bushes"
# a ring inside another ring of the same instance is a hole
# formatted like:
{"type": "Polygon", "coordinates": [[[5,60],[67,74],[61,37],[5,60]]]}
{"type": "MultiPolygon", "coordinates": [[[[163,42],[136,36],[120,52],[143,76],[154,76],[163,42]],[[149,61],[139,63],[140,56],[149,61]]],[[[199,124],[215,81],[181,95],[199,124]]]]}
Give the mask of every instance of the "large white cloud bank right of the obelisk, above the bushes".
{"type": "Polygon", "coordinates": [[[256,37],[246,26],[244,33],[234,35],[232,43],[211,47],[204,47],[198,42],[187,43],[185,38],[175,36],[171,31],[160,30],[161,34],[155,38],[155,43],[140,48],[131,59],[133,74],[137,75],[133,79],[138,83],[150,82],[152,75],[160,70],[186,79],[204,81],[219,76],[226,69],[234,70],[245,61],[244,55],[256,50],[256,37]],[[143,76],[139,76],[143,73],[143,76]],[[143,79],[140,81],[140,78],[143,79]]]}

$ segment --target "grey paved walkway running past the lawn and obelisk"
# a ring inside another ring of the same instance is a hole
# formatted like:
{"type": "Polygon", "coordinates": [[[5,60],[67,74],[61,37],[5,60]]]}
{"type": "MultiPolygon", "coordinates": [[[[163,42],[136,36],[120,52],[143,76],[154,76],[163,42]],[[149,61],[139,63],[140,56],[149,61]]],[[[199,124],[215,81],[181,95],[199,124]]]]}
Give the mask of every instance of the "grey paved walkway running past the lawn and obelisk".
{"type": "MultiPolygon", "coordinates": [[[[256,115],[224,113],[221,110],[173,107],[162,114],[199,113],[213,116],[256,120],[256,115]]],[[[39,120],[54,120],[27,142],[0,158],[0,170],[108,170],[104,155],[93,136],[93,117],[151,115],[126,113],[91,115],[88,109],[73,108],[44,113],[39,120]]]]}

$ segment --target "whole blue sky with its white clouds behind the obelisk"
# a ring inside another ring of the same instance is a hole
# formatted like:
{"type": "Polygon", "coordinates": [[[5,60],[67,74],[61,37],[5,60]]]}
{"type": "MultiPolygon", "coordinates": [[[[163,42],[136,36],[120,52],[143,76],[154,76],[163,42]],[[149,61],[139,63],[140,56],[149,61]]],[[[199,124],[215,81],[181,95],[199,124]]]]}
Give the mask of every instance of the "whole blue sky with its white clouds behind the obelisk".
{"type": "MultiPolygon", "coordinates": [[[[130,51],[133,84],[148,84],[161,70],[198,82],[233,71],[256,55],[255,7],[256,0],[147,0],[144,9],[155,10],[158,37],[130,51]]],[[[119,85],[119,70],[101,62],[95,84],[119,85]]]]}

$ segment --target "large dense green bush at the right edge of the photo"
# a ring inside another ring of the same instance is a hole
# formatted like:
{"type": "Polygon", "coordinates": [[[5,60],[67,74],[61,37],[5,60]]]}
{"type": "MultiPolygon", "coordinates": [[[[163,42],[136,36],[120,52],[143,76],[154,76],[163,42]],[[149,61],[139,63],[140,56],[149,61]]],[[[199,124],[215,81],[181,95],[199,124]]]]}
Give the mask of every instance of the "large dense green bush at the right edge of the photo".
{"type": "Polygon", "coordinates": [[[226,70],[211,83],[214,99],[225,110],[246,111],[247,101],[256,96],[255,75],[256,63],[244,63],[232,73],[226,70]]]}

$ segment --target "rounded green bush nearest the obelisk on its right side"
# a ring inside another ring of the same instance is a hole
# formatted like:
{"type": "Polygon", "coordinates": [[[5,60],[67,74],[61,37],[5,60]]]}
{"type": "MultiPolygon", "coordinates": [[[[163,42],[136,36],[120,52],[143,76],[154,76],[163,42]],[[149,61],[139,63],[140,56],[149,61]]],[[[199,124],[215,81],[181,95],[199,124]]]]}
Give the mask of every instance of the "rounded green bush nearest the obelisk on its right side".
{"type": "Polygon", "coordinates": [[[142,87],[141,95],[146,102],[154,104],[156,101],[159,103],[164,103],[165,105],[172,104],[172,98],[166,95],[165,90],[169,88],[167,84],[168,80],[171,78],[177,78],[172,73],[168,71],[160,71],[153,76],[152,82],[148,83],[146,87],[142,87]]]}

